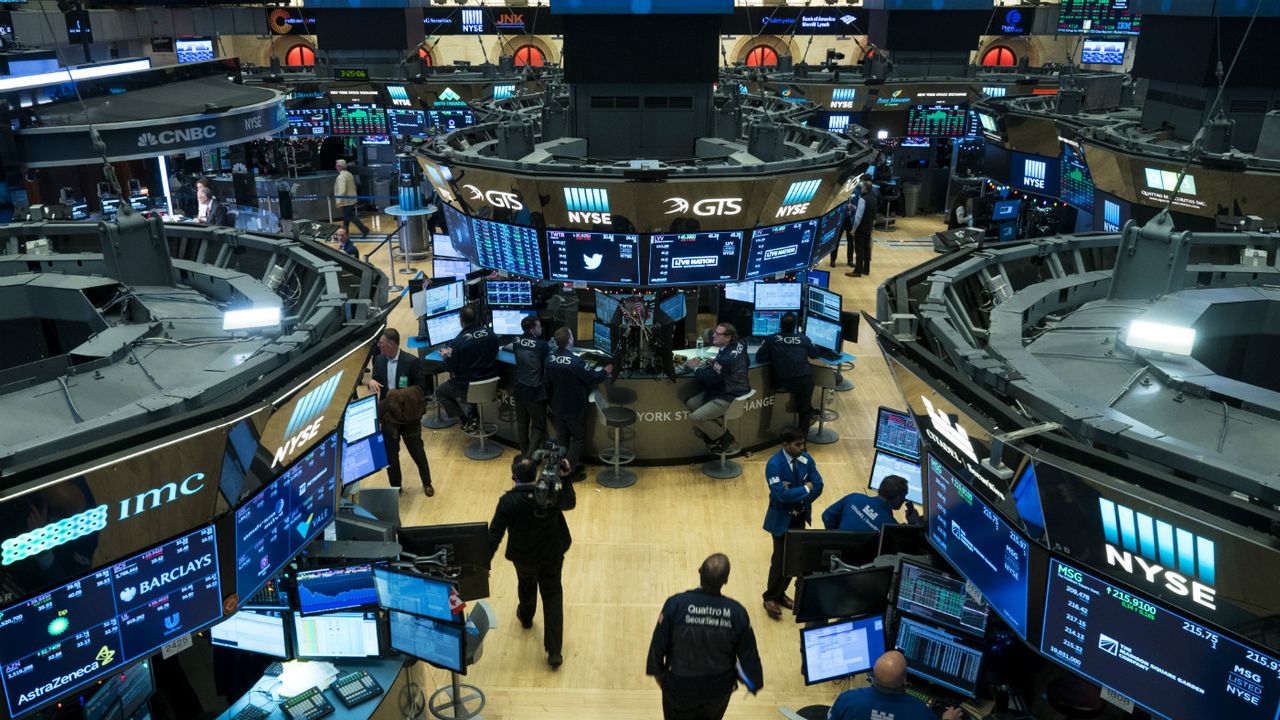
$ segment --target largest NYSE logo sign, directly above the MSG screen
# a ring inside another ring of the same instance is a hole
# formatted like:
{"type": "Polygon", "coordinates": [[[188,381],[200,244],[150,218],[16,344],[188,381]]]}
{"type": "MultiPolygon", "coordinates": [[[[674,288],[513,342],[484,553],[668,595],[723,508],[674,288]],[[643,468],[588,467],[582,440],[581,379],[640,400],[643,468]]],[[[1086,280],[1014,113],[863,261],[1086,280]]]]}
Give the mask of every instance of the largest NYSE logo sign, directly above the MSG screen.
{"type": "Polygon", "coordinates": [[[1216,610],[1213,541],[1098,498],[1107,565],[1216,610]]]}

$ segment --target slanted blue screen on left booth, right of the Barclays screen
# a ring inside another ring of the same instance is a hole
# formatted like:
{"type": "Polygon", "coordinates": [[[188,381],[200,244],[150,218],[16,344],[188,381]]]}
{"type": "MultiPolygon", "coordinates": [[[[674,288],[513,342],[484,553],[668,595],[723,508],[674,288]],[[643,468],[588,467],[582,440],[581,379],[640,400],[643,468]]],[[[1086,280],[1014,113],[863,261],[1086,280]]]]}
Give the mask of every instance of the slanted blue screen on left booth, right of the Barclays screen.
{"type": "Polygon", "coordinates": [[[338,433],[236,510],[236,592],[248,598],[333,521],[338,433]]]}

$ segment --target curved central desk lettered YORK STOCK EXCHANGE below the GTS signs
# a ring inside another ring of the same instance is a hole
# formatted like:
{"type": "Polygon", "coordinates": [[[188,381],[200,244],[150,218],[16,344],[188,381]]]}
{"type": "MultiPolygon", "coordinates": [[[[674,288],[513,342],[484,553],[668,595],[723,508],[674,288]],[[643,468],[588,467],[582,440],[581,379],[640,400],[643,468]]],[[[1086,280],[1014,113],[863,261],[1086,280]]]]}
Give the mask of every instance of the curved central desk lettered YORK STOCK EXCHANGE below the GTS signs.
{"type": "MultiPolygon", "coordinates": [[[[737,438],[744,451],[756,451],[777,443],[778,433],[782,432],[782,428],[795,424],[795,413],[790,409],[788,393],[774,395],[769,364],[762,365],[755,361],[755,351],[758,348],[758,345],[748,346],[751,359],[749,378],[751,387],[756,391],[755,397],[748,401],[746,411],[742,414],[741,420],[730,423],[730,432],[737,438]]],[[[708,356],[714,350],[713,347],[703,350],[685,348],[677,350],[675,354],[686,357],[699,354],[708,356]]],[[[590,354],[588,352],[586,355],[590,354]]],[[[439,361],[440,355],[439,352],[431,352],[426,359],[439,361]]],[[[823,363],[835,366],[838,363],[851,363],[852,360],[854,356],[846,354],[841,355],[838,360],[823,363]]],[[[486,414],[485,421],[490,421],[492,419],[497,423],[498,434],[495,437],[504,445],[515,447],[516,401],[512,388],[516,384],[516,357],[506,348],[498,352],[498,402],[502,410],[497,414],[497,418],[488,416],[486,414]]],[[[677,374],[675,382],[664,375],[623,372],[620,373],[616,380],[605,380],[600,387],[605,388],[611,383],[622,391],[631,391],[630,393],[623,392],[623,395],[635,397],[632,402],[622,405],[635,410],[637,415],[636,424],[631,428],[635,432],[634,438],[630,442],[623,442],[623,446],[635,450],[636,464],[676,465],[680,462],[703,461],[712,457],[707,446],[694,434],[694,425],[689,419],[689,409],[685,406],[686,398],[701,392],[701,386],[694,379],[691,372],[677,374]]],[[[814,407],[818,407],[820,391],[815,389],[814,397],[814,407]]],[[[594,405],[588,407],[588,413],[590,414],[590,437],[582,450],[582,456],[598,459],[600,450],[613,446],[613,439],[609,436],[609,429],[596,421],[598,413],[594,405]]],[[[547,432],[548,437],[554,437],[556,434],[549,418],[547,432]]],[[[627,436],[623,437],[626,438],[627,436]]]]}

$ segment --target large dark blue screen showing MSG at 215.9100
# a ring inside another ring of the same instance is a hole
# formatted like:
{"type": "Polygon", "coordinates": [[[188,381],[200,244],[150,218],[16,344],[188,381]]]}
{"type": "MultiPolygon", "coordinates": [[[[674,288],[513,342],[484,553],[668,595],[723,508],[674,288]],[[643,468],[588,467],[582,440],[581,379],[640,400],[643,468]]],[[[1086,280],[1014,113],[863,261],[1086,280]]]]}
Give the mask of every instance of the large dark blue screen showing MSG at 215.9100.
{"type": "Polygon", "coordinates": [[[1169,717],[1274,720],[1280,660],[1059,560],[1041,652],[1169,717]]]}

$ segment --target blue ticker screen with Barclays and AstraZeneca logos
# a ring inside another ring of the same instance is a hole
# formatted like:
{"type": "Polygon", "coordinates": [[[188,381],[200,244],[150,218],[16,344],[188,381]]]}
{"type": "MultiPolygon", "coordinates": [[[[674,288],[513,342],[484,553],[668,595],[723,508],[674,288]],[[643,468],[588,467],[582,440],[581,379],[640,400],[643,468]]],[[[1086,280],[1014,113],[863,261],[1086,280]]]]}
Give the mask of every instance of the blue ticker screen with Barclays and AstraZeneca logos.
{"type": "Polygon", "coordinates": [[[212,527],[0,612],[10,716],[29,712],[223,614],[212,527]]]}

